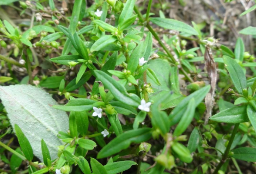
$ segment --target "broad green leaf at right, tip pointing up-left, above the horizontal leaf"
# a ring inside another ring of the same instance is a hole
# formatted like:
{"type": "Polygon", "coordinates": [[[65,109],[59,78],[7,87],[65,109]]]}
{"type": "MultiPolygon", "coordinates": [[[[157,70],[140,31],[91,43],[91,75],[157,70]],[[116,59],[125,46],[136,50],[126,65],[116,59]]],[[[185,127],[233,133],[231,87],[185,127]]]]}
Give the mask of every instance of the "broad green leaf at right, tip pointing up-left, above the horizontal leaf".
{"type": "Polygon", "coordinates": [[[241,66],[234,59],[225,55],[223,56],[223,60],[236,90],[239,94],[242,94],[242,90],[246,88],[246,77],[241,66]]]}

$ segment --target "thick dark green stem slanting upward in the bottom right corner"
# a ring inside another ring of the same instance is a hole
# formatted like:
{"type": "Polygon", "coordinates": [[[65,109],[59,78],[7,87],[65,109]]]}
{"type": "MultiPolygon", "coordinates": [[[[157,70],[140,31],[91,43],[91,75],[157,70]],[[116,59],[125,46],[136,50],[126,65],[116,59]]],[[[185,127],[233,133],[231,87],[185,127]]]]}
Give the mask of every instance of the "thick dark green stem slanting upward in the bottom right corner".
{"type": "Polygon", "coordinates": [[[231,145],[232,145],[232,143],[233,143],[233,141],[234,141],[234,138],[235,138],[236,132],[237,132],[237,130],[238,130],[239,124],[240,124],[240,123],[236,123],[236,124],[235,124],[235,127],[234,127],[234,129],[233,129],[233,132],[232,132],[231,137],[230,137],[229,142],[228,142],[228,146],[227,146],[227,148],[225,149],[225,152],[224,152],[224,154],[223,154],[223,156],[222,156],[221,162],[217,165],[217,167],[215,168],[214,173],[212,173],[212,174],[217,174],[218,171],[221,169],[222,165],[225,163],[225,160],[228,158],[228,154],[229,154],[231,145]]]}

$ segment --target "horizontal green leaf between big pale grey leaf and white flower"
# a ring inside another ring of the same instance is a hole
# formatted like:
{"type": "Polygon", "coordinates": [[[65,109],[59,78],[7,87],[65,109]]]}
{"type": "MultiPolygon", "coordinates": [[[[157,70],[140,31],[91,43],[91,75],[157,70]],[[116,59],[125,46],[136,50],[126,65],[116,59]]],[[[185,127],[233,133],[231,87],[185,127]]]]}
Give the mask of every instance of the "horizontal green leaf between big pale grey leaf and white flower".
{"type": "Polygon", "coordinates": [[[75,98],[70,99],[65,105],[53,105],[53,108],[65,110],[65,111],[88,111],[93,109],[93,103],[97,101],[90,100],[87,98],[75,98]]]}

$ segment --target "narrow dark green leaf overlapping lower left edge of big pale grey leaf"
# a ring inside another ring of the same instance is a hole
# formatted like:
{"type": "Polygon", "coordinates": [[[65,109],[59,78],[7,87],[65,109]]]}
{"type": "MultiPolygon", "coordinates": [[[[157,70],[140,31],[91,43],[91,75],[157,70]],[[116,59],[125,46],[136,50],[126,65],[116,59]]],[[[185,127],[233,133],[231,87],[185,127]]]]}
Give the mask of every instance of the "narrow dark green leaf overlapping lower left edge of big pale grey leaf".
{"type": "Polygon", "coordinates": [[[14,125],[14,129],[19,141],[19,144],[21,146],[21,150],[24,153],[24,156],[27,158],[27,160],[31,161],[33,159],[33,149],[31,147],[31,144],[29,143],[27,137],[22,132],[21,128],[18,125],[14,125]]]}

